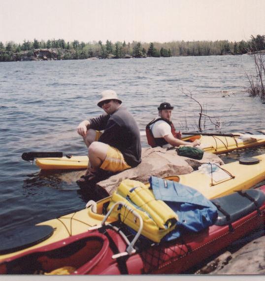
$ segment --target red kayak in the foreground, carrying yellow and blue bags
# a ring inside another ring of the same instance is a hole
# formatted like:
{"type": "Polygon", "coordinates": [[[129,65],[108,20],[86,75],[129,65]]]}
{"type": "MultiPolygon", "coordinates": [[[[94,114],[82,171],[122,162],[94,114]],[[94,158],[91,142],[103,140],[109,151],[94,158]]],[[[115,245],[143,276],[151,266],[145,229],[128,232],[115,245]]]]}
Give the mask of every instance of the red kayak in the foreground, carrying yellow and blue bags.
{"type": "MultiPolygon", "coordinates": [[[[265,193],[265,187],[261,188],[265,193]]],[[[127,243],[113,229],[88,231],[48,246],[39,247],[0,263],[0,274],[33,274],[42,270],[51,272],[63,266],[72,266],[72,274],[177,274],[195,266],[240,237],[264,226],[265,203],[261,213],[253,211],[228,225],[213,225],[204,231],[188,234],[178,240],[149,246],[131,256],[112,258],[125,252],[127,243]]]]}

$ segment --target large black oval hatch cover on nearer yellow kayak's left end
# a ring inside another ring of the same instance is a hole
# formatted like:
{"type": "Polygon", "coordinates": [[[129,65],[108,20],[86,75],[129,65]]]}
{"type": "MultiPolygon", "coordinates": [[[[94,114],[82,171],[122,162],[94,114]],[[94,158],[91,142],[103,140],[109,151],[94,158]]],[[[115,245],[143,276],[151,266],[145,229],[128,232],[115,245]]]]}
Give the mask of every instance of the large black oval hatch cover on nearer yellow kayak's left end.
{"type": "Polygon", "coordinates": [[[50,225],[33,225],[12,229],[1,236],[0,254],[8,254],[48,239],[54,232],[50,225]]]}

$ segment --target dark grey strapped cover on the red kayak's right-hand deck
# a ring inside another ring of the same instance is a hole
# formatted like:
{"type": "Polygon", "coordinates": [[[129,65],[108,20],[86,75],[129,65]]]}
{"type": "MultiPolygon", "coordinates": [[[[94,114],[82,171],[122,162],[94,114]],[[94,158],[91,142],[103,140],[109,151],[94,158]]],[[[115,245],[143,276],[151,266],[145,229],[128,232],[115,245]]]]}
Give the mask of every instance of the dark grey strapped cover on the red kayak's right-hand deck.
{"type": "Polygon", "coordinates": [[[223,226],[260,208],[265,202],[265,194],[259,189],[248,189],[213,199],[211,202],[218,208],[218,217],[214,224],[223,226]]]}

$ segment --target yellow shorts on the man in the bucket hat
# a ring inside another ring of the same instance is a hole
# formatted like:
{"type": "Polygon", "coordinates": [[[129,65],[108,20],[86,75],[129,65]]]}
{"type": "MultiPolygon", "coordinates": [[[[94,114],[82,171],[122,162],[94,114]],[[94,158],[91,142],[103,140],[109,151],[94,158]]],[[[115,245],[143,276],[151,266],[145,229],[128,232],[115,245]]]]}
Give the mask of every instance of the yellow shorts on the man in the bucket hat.
{"type": "Polygon", "coordinates": [[[100,169],[116,173],[130,168],[132,167],[126,163],[121,151],[109,145],[107,156],[101,164],[100,169]]]}

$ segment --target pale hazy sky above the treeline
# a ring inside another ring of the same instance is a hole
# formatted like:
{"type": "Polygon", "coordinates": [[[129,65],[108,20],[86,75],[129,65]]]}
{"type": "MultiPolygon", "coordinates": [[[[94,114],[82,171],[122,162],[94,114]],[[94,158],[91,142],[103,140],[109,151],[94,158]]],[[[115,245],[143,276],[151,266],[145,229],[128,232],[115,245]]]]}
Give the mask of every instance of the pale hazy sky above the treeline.
{"type": "Polygon", "coordinates": [[[0,41],[248,40],[265,0],[0,0],[0,41]]]}

